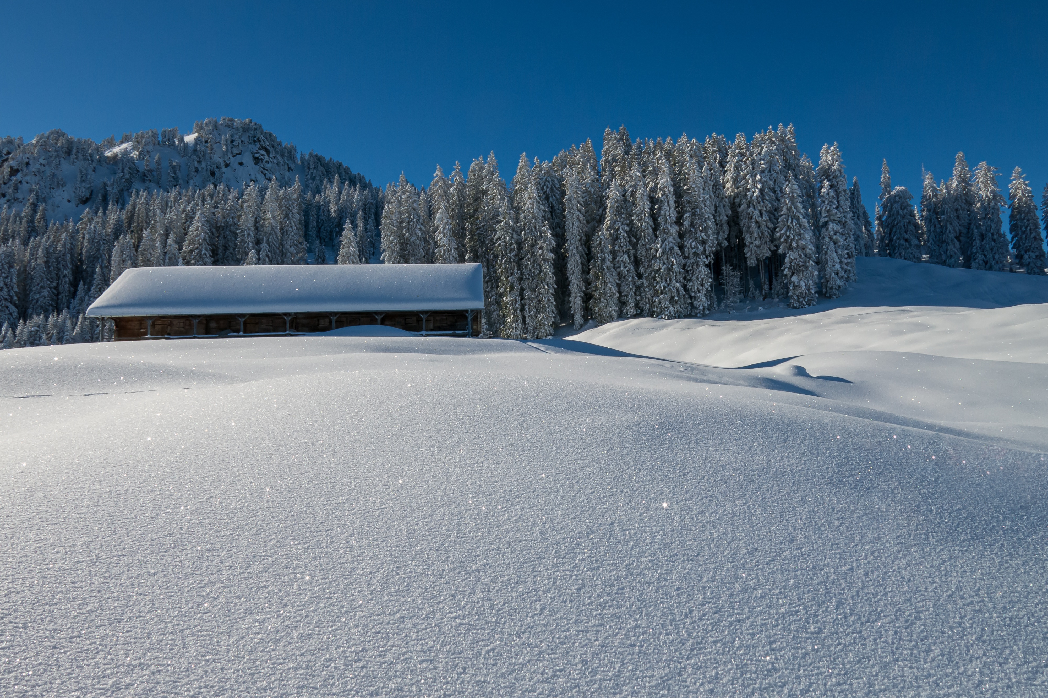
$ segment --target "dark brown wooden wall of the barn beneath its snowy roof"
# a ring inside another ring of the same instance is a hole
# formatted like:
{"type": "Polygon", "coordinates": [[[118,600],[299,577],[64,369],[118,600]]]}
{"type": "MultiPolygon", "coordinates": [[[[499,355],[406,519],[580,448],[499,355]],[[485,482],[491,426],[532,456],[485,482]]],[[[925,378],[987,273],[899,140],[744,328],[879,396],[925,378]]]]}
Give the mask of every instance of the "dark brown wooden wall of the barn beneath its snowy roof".
{"type": "Polygon", "coordinates": [[[166,337],[309,334],[358,325],[396,327],[421,335],[479,336],[479,310],[430,312],[293,312],[247,315],[141,315],[111,318],[116,342],[166,337]]]}

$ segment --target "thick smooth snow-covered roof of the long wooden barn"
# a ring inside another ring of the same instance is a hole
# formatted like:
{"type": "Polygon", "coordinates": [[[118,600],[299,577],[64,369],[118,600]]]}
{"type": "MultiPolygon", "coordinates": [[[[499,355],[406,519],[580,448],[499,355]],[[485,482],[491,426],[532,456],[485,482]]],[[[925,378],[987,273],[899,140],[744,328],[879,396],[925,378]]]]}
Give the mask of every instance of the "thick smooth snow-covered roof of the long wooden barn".
{"type": "Polygon", "coordinates": [[[152,266],[128,269],[94,318],[479,310],[480,264],[152,266]]]}

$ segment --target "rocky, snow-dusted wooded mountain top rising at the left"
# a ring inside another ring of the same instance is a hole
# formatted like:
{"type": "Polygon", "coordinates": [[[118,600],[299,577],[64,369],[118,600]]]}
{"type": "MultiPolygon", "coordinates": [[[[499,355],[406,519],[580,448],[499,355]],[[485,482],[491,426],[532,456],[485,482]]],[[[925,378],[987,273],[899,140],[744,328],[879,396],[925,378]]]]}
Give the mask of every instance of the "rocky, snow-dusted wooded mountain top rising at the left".
{"type": "Polygon", "coordinates": [[[208,118],[188,135],[178,129],[127,133],[118,144],[111,137],[101,144],[73,138],[60,130],[29,143],[0,138],[0,206],[20,209],[36,190],[48,218],[58,221],[77,219],[86,206],[119,200],[135,190],[239,189],[274,177],[289,186],[299,177],[313,192],[335,175],[370,188],[342,162],[315,153],[300,157],[292,144],[250,119],[208,118]]]}

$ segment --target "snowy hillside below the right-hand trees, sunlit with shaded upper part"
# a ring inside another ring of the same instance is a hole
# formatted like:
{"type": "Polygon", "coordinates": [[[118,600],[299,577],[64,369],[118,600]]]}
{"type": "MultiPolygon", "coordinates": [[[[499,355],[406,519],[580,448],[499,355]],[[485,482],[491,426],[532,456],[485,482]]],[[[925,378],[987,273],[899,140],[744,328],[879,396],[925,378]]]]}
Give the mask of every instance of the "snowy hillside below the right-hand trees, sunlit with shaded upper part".
{"type": "Polygon", "coordinates": [[[751,302],[749,312],[672,321],[641,318],[564,336],[715,366],[860,350],[1048,361],[1048,278],[881,257],[863,257],[856,264],[859,281],[844,296],[820,299],[803,310],[758,310],[761,304],[751,302]]]}

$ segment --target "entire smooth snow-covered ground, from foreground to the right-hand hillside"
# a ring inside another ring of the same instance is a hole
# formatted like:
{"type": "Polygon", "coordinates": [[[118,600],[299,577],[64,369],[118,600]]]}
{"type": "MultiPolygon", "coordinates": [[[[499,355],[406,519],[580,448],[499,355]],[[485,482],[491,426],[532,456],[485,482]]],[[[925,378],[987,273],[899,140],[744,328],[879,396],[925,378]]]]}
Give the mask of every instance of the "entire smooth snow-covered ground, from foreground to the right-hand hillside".
{"type": "Polygon", "coordinates": [[[1042,694],[1048,280],[864,263],[545,342],[2,352],[2,693],[1042,694]]]}

